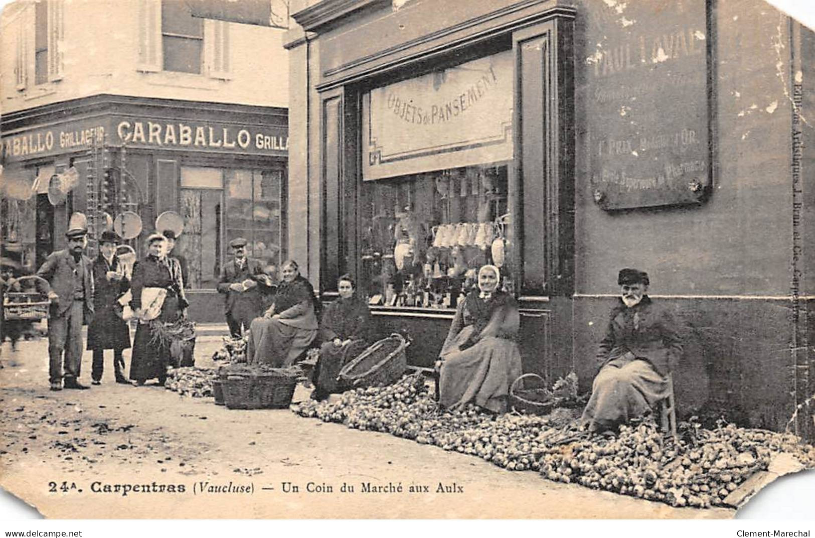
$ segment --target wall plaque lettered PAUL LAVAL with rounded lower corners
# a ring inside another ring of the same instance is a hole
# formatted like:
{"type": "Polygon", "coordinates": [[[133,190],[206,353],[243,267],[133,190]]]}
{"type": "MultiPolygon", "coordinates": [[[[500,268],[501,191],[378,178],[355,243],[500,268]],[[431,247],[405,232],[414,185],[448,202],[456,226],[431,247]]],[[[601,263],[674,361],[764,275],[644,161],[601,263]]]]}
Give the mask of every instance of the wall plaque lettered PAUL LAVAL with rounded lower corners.
{"type": "Polygon", "coordinates": [[[594,200],[603,209],[698,203],[710,185],[704,0],[589,5],[594,200]]]}

